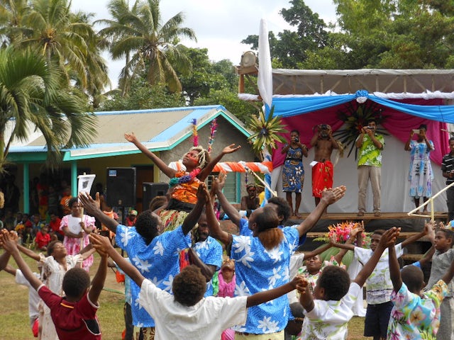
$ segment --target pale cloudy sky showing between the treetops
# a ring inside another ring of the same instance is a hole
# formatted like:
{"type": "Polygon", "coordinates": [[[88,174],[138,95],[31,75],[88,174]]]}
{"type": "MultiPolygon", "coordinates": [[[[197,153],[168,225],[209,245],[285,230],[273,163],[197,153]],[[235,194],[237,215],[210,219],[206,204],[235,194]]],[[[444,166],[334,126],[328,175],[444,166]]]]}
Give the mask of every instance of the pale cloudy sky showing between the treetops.
{"type": "MultiPolygon", "coordinates": [[[[129,0],[132,4],[134,0],[129,0]]],[[[73,11],[85,11],[95,14],[95,20],[109,19],[107,4],[109,0],[72,0],[73,11]]],[[[318,13],[325,23],[335,21],[336,7],[331,0],[305,0],[314,13],[318,13]]],[[[284,0],[161,0],[162,22],[175,14],[184,13],[183,27],[192,28],[197,42],[182,40],[188,47],[207,48],[210,60],[215,62],[228,59],[238,65],[243,52],[250,50],[250,45],[241,44],[248,35],[258,35],[260,19],[265,19],[268,30],[275,34],[292,27],[284,21],[279,11],[290,8],[284,0]]],[[[118,74],[124,61],[110,60],[109,54],[103,55],[108,60],[109,77],[116,87],[118,74]]]]}

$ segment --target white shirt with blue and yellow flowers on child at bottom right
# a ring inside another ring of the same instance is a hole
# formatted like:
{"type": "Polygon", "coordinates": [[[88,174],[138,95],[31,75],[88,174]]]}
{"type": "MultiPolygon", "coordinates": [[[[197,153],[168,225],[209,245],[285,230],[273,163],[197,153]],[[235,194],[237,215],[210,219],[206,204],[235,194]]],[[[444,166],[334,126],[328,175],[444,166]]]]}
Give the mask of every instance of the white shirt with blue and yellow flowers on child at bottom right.
{"type": "Polygon", "coordinates": [[[448,286],[439,280],[423,296],[411,293],[405,283],[399,292],[392,292],[391,317],[387,339],[435,339],[440,326],[440,305],[448,294],[448,286]]]}

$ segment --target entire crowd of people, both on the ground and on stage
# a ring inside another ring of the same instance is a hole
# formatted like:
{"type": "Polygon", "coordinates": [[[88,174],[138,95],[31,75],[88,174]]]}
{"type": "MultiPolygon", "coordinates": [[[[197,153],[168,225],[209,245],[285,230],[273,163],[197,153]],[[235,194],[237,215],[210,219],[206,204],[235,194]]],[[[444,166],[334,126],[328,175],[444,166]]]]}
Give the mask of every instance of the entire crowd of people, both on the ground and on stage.
{"type": "MultiPolygon", "coordinates": [[[[375,122],[370,121],[356,141],[360,149],[358,184],[377,182],[374,210],[375,215],[380,215],[380,152],[384,140],[375,129],[375,122]]],[[[411,152],[410,195],[415,204],[416,199],[431,196],[427,183],[431,169],[426,153],[433,150],[433,143],[426,139],[425,132],[421,125],[417,140],[412,140],[416,132],[411,132],[405,145],[411,152]]],[[[450,339],[453,335],[450,322],[453,297],[448,285],[454,276],[451,249],[454,236],[450,229],[426,224],[419,234],[399,244],[396,244],[399,228],[377,229],[366,247],[361,239],[363,230],[357,229],[345,244],[330,240],[316,251],[297,251],[328,206],[345,195],[345,186],[332,187],[330,156],[340,145],[333,139],[329,125],[316,127],[311,140],[311,146],[316,148],[313,166],[316,208],[305,220],[292,226],[285,224],[290,217],[298,217],[301,198],[296,196],[297,205],[292,205],[292,192],[297,192],[293,191],[297,182],[292,178],[299,176],[302,186],[303,169],[286,170],[284,190],[292,190],[287,191],[290,195],[285,199],[274,197],[260,205],[252,191],[248,192],[248,198],[254,199],[245,203],[252,202],[254,208],[245,216],[223,195],[226,176],[221,174],[212,179],[210,189],[204,183],[223,154],[236,152],[239,147],[229,145],[214,159],[202,147],[192,148],[182,158],[186,168],[175,170],[143,147],[133,134],[125,137],[171,177],[167,198],[153,200],[150,209],[139,214],[131,210],[125,225],[106,213],[99,193],[94,197],[79,193],[77,198],[67,198],[67,210],[60,223],[56,220],[58,215],[52,213],[50,217],[50,221],[55,218],[54,225],[60,224],[57,229],[61,234],[60,238],[55,234],[53,241],[40,248],[47,256],[19,242],[19,236],[23,241],[26,229],[33,229],[28,216],[21,218],[23,232],[16,227],[0,231],[0,245],[4,248],[0,270],[16,278],[23,276],[31,292],[38,294],[33,300],[30,297],[30,301],[39,301],[38,305],[31,302],[34,309],[31,308],[30,325],[40,339],[101,339],[102,328],[108,325],[99,324],[96,310],[102,303],[99,297],[109,257],[128,282],[127,340],[347,339],[348,322],[355,314],[358,299],[362,300],[365,283],[365,336],[378,340],[435,336],[450,339]],[[216,200],[238,232],[232,234],[221,228],[216,200]],[[96,227],[96,222],[105,228],[106,236],[99,233],[102,229],[96,227]],[[426,261],[406,266],[402,272],[397,263],[402,249],[421,237],[428,237],[433,244],[431,276],[426,288],[419,268],[426,261]],[[121,256],[113,243],[126,252],[128,259],[121,256]],[[321,252],[332,246],[340,249],[338,254],[329,261],[321,261],[321,252]],[[350,275],[342,263],[348,250],[362,265],[350,275]],[[101,260],[90,284],[87,271],[93,263],[94,251],[101,260]],[[33,273],[21,253],[38,261],[38,273],[33,273]],[[10,258],[18,268],[9,265],[10,258]]],[[[302,163],[297,155],[307,156],[307,148],[299,142],[297,131],[291,132],[291,138],[282,152],[289,156],[286,166],[298,168],[302,163]]],[[[450,140],[450,147],[454,155],[454,139],[450,140]]],[[[454,166],[454,156],[452,159],[454,166]]],[[[443,159],[443,174],[454,181],[448,168],[450,161],[443,159]]],[[[362,194],[360,190],[359,198],[362,194]]],[[[363,203],[358,200],[358,215],[365,212],[363,203]]],[[[41,212],[44,210],[38,210],[39,217],[41,212]]],[[[53,228],[50,222],[41,226],[40,239],[45,237],[46,229],[53,228]]]]}

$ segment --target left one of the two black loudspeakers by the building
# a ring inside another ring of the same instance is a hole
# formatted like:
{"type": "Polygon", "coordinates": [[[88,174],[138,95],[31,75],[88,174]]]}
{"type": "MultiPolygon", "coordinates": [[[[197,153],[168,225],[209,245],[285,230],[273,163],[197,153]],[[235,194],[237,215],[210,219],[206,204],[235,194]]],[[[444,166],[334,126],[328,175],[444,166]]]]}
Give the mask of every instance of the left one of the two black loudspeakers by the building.
{"type": "Polygon", "coordinates": [[[107,168],[109,207],[135,207],[135,168],[107,168]]]}

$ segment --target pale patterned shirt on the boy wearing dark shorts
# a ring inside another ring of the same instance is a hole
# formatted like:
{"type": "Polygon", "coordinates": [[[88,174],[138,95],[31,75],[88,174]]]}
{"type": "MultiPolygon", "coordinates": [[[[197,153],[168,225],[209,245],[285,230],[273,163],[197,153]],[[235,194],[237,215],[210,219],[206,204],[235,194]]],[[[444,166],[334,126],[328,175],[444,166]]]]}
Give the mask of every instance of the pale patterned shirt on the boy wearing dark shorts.
{"type": "MultiPolygon", "coordinates": [[[[365,266],[373,253],[372,249],[364,249],[355,246],[355,258],[360,261],[362,266],[365,266]]],[[[402,244],[396,244],[397,258],[402,256],[402,254],[402,244]]],[[[379,303],[391,300],[392,281],[389,277],[388,257],[389,251],[388,249],[385,249],[377,266],[375,266],[374,271],[372,271],[372,274],[366,280],[366,300],[369,305],[378,305],[379,303]]]]}

